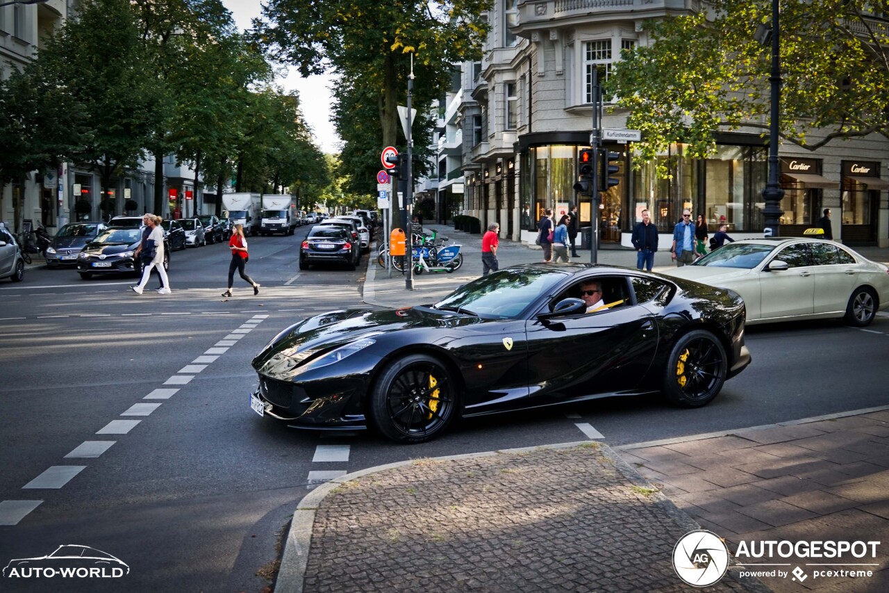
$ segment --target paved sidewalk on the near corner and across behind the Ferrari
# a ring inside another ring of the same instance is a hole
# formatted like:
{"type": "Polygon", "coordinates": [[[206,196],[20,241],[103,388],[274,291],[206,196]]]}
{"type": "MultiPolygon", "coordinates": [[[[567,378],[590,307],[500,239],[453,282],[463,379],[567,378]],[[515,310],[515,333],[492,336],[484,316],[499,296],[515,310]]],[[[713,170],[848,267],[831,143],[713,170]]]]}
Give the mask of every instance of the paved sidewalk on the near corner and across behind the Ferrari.
{"type": "MultiPolygon", "coordinates": [[[[450,234],[464,243],[460,271],[415,277],[411,292],[372,261],[364,301],[428,303],[476,278],[480,241],[450,234]]],[[[498,255],[501,267],[541,259],[508,241],[498,255]]],[[[599,255],[635,265],[630,250],[599,255]]],[[[690,591],[672,554],[703,528],[732,554],[741,541],[881,542],[876,557],[736,558],[706,590],[887,591],[887,491],[889,406],[615,449],[586,441],[413,459],[341,476],[301,500],[275,590],[690,591]],[[766,574],[742,574],[751,566],[766,574]],[[815,573],[860,569],[872,574],[815,573]]]]}

